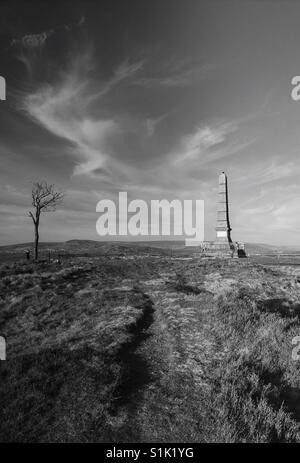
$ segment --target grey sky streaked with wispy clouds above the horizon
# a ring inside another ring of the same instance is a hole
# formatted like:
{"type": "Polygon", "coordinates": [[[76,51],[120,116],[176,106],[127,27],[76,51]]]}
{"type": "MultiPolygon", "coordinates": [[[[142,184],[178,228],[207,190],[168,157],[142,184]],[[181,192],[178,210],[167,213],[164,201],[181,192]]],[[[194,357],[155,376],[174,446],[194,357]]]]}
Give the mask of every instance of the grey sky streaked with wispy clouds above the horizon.
{"type": "Polygon", "coordinates": [[[204,200],[214,239],[225,171],[234,240],[300,245],[299,21],[296,1],[1,2],[0,244],[33,239],[41,180],[65,192],[42,241],[100,239],[120,191],[204,200]]]}

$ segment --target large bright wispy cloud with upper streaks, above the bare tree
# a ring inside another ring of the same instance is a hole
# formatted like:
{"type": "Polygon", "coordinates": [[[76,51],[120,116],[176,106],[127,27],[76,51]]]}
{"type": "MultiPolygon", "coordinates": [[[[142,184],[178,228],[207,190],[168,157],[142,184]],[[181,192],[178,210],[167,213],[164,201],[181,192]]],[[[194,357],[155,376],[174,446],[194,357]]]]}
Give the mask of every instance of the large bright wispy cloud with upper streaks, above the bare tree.
{"type": "Polygon", "coordinates": [[[23,107],[27,114],[54,135],[71,142],[73,148],[69,152],[77,163],[74,175],[92,174],[102,168],[108,158],[107,139],[119,132],[114,118],[92,117],[89,104],[101,100],[141,67],[142,62],[124,61],[100,90],[99,85],[95,89],[89,76],[93,54],[87,50],[76,56],[58,82],[25,96],[23,107]]]}

